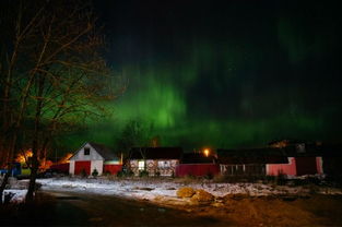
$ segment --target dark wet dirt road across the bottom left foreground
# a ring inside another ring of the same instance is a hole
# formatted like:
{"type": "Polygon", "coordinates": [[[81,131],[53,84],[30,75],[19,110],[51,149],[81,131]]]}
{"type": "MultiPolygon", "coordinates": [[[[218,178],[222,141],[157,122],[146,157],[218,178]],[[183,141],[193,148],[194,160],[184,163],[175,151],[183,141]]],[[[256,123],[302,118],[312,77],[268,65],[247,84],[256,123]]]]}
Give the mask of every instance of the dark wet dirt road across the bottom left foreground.
{"type": "Polygon", "coordinates": [[[37,204],[5,214],[0,225],[31,226],[227,226],[226,220],[139,201],[96,194],[44,192],[37,204]]]}

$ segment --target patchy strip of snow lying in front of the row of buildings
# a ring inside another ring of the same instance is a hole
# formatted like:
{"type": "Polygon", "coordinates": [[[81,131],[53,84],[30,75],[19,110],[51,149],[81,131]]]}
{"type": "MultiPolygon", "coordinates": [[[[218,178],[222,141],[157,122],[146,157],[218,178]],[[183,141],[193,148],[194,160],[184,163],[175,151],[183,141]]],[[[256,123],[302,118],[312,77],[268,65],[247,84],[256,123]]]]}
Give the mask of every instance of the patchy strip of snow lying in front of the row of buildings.
{"type": "Polygon", "coordinates": [[[106,179],[79,179],[79,178],[50,178],[38,179],[43,190],[73,191],[85,193],[98,193],[104,195],[117,195],[130,199],[153,201],[162,198],[177,199],[176,191],[181,187],[203,189],[214,196],[227,194],[262,195],[307,195],[312,193],[342,194],[340,189],[328,187],[291,187],[263,183],[214,183],[190,182],[179,183],[175,180],[106,180],[106,179]]]}

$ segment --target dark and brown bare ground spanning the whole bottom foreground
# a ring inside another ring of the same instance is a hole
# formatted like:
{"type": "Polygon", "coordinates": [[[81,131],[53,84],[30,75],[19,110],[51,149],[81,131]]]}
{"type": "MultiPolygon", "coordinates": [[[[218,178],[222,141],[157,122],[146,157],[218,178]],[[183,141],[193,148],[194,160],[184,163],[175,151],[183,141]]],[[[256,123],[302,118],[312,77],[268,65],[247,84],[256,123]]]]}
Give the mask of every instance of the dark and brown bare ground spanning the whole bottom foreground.
{"type": "Polygon", "coordinates": [[[117,196],[45,191],[35,205],[0,206],[0,226],[342,226],[341,195],[221,200],[220,204],[166,207],[117,196]]]}

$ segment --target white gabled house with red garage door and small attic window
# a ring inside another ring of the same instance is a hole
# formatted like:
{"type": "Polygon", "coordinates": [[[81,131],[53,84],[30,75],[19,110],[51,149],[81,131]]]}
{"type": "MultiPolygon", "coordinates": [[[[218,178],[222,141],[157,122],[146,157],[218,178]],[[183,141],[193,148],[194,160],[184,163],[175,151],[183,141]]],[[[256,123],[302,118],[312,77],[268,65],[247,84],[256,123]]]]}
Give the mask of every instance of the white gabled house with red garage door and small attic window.
{"type": "Polygon", "coordinates": [[[120,169],[120,160],[116,155],[105,145],[87,142],[79,148],[73,156],[69,158],[69,174],[81,175],[85,172],[91,175],[94,169],[97,170],[98,175],[107,171],[110,174],[113,167],[120,169]]]}

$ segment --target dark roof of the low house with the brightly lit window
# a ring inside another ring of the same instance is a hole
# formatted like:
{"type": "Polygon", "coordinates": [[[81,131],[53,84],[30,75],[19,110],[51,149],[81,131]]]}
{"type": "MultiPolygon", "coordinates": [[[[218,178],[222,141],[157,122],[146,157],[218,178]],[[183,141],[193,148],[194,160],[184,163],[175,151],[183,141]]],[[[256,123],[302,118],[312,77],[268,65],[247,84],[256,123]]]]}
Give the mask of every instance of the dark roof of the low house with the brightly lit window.
{"type": "Polygon", "coordinates": [[[130,159],[180,159],[181,155],[181,147],[132,147],[130,150],[130,159]]]}

